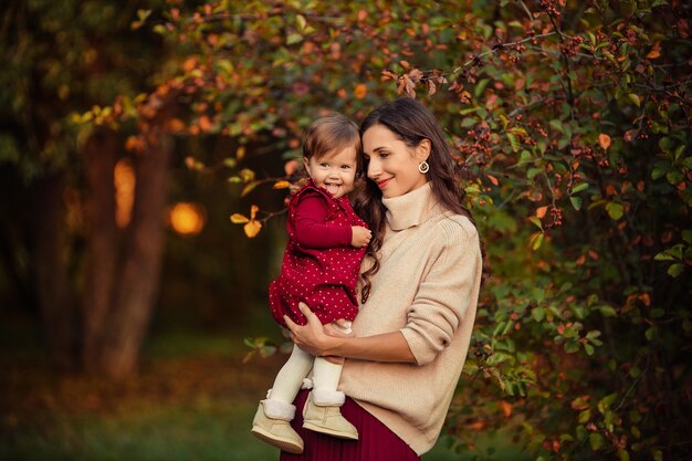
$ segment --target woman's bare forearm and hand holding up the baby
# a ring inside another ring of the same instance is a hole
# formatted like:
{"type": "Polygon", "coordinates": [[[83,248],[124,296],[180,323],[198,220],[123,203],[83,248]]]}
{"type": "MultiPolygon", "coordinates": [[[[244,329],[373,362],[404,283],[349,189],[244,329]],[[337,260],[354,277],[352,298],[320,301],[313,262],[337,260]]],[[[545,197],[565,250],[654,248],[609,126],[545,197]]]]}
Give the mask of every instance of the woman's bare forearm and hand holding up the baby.
{"type": "Polygon", "coordinates": [[[324,332],[319,319],[301,303],[306,325],[297,325],[284,316],[291,331],[291,339],[301,349],[314,356],[338,356],[376,362],[416,363],[403,334],[399,331],[364,337],[336,337],[324,332]]]}

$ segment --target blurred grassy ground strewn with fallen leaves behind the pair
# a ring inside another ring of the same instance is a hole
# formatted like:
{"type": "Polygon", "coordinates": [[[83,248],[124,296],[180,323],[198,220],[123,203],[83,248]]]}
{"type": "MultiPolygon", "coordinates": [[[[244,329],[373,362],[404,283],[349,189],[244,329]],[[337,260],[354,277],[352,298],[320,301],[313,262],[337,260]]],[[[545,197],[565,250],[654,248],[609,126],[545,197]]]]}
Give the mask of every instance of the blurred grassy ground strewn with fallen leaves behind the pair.
{"type": "MultiPolygon", "coordinates": [[[[168,333],[147,343],[139,376],[113,384],[53,376],[35,344],[9,344],[0,343],[0,460],[279,459],[249,430],[284,356],[243,365],[240,337],[168,333]]],[[[495,459],[518,459],[496,439],[479,442],[474,454],[500,447],[495,459]]],[[[450,450],[452,441],[441,438],[423,461],[473,459],[450,450]]]]}

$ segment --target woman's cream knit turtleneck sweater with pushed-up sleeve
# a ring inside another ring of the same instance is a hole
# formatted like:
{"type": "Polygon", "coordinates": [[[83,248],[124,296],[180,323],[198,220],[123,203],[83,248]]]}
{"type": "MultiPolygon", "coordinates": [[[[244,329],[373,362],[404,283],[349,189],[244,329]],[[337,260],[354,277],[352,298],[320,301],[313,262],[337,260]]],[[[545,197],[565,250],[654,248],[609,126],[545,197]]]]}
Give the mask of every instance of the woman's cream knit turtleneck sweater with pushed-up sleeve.
{"type": "Polygon", "coordinates": [[[384,203],[380,270],[353,329],[401,331],[417,364],[346,359],[339,390],[420,455],[438,439],[466,357],[481,251],[475,227],[442,210],[429,185],[384,203]]]}

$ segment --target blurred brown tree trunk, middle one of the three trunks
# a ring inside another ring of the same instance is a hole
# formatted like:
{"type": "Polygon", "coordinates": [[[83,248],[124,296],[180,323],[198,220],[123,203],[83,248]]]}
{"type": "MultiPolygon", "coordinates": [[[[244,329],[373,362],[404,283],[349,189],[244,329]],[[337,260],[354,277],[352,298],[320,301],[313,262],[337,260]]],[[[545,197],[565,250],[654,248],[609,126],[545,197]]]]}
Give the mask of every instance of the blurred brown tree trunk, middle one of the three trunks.
{"type": "Polygon", "coordinates": [[[118,139],[113,132],[98,132],[85,146],[87,222],[86,274],[83,300],[82,360],[87,371],[98,369],[102,339],[113,303],[118,254],[115,224],[113,172],[118,157],[118,139]]]}

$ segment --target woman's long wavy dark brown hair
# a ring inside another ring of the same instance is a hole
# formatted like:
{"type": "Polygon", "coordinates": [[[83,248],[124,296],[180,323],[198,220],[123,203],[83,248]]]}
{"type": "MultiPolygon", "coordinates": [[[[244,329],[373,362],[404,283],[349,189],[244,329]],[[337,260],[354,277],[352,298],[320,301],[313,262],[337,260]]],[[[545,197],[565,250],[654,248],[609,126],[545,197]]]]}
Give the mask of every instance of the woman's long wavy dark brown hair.
{"type": "MultiPolygon", "coordinates": [[[[458,164],[452,158],[451,148],[445,140],[442,128],[426,106],[410,97],[401,97],[385,103],[370,112],[363,121],[360,137],[375,125],[387,127],[411,148],[418,146],[423,139],[429,139],[428,165],[430,170],[426,176],[432,193],[443,208],[455,214],[465,216],[475,226],[471,212],[463,205],[466,195],[459,181],[458,164]]],[[[366,175],[367,170],[368,161],[365,160],[364,171],[366,175]]],[[[367,255],[373,261],[373,265],[361,274],[364,285],[360,301],[365,303],[373,289],[371,277],[379,271],[377,254],[382,247],[387,219],[382,192],[373,180],[366,179],[365,186],[355,193],[354,209],[370,226],[373,232],[373,239],[367,250],[367,255]]]]}

